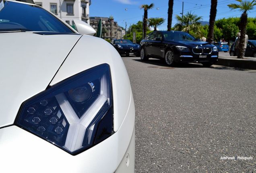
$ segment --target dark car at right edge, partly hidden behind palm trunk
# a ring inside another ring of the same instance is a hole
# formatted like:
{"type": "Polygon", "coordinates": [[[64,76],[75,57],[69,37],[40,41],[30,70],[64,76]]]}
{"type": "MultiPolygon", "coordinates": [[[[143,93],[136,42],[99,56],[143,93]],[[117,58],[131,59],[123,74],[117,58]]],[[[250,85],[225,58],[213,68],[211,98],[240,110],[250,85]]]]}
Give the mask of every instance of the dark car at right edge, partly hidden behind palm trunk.
{"type": "MultiPolygon", "coordinates": [[[[236,56],[235,42],[231,45],[229,50],[230,56],[236,56]]],[[[250,56],[256,58],[256,40],[248,40],[246,51],[244,56],[250,56]]]]}

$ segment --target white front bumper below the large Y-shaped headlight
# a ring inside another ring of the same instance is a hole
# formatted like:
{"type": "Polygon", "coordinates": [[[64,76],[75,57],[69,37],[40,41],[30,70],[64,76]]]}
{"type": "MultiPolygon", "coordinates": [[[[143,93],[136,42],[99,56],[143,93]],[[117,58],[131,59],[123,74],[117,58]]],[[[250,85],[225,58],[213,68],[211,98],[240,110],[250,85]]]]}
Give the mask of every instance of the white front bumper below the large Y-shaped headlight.
{"type": "Polygon", "coordinates": [[[118,131],[75,156],[15,125],[4,127],[0,129],[0,172],[132,173],[134,120],[131,94],[128,111],[118,131]]]}

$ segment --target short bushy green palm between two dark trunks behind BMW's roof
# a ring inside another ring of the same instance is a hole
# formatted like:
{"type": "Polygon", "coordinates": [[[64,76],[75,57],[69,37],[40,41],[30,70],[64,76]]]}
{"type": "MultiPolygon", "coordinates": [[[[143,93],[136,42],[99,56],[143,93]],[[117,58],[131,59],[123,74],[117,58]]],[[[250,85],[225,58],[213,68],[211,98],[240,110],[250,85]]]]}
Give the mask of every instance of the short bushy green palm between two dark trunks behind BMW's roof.
{"type": "Polygon", "coordinates": [[[201,16],[197,16],[191,12],[187,12],[183,17],[176,15],[178,24],[175,24],[174,30],[181,30],[183,32],[193,31],[197,35],[200,35],[201,16]]]}

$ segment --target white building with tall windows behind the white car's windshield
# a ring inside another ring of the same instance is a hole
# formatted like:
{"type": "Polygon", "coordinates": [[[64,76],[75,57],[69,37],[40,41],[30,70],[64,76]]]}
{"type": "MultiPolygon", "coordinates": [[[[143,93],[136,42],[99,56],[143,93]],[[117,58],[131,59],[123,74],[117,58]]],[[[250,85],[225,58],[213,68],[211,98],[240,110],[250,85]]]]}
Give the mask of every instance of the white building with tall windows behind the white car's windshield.
{"type": "Polygon", "coordinates": [[[90,23],[91,0],[34,0],[34,2],[70,25],[74,25],[73,19],[90,23]]]}

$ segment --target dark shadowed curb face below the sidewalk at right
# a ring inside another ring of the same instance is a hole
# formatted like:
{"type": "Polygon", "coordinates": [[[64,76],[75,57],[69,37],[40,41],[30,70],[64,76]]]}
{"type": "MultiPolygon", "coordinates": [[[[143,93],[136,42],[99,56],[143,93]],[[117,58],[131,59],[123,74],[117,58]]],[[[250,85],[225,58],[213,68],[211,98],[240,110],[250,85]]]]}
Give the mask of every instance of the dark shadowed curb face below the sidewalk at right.
{"type": "Polygon", "coordinates": [[[256,70],[256,60],[219,58],[215,64],[256,70]]]}

